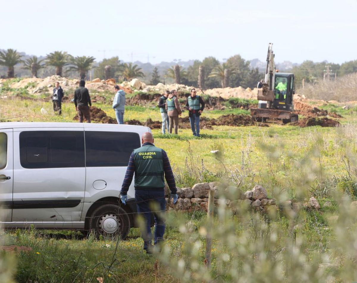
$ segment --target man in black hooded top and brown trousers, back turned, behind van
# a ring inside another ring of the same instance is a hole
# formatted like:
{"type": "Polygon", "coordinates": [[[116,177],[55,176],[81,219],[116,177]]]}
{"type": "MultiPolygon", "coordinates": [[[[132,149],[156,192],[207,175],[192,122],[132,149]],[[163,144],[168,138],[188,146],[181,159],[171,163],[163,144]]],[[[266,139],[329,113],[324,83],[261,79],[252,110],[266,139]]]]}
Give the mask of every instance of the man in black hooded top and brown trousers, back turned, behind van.
{"type": "Polygon", "coordinates": [[[74,92],[74,105],[76,106],[78,113],[79,123],[83,123],[83,115],[87,123],[90,123],[89,106],[92,106],[92,103],[90,101],[88,89],[84,87],[85,85],[85,80],[81,79],[79,82],[79,88],[77,88],[74,92]]]}

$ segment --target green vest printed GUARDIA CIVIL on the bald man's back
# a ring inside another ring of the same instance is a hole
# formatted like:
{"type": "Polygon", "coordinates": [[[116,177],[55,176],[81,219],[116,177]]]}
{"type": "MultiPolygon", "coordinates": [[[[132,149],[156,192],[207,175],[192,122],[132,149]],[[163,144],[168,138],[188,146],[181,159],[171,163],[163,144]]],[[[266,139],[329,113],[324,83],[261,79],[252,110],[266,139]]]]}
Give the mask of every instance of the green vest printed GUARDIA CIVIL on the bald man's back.
{"type": "Polygon", "coordinates": [[[134,187],[164,188],[164,161],[162,150],[154,145],[143,145],[134,150],[134,187]]]}

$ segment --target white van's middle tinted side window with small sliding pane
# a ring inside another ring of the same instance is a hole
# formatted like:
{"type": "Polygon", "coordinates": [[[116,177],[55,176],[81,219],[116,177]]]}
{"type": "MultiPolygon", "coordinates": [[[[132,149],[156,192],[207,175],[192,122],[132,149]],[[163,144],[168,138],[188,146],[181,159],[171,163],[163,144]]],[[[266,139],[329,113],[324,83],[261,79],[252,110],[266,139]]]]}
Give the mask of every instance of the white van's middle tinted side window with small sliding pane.
{"type": "Polygon", "coordinates": [[[29,169],[84,167],[84,133],[21,132],[20,163],[29,169]]]}

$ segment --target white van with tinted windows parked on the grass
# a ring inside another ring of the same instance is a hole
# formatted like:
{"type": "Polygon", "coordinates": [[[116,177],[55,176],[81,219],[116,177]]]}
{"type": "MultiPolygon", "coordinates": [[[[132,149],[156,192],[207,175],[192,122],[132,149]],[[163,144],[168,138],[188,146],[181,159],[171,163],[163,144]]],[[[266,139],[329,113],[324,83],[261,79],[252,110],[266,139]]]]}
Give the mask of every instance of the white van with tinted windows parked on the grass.
{"type": "Polygon", "coordinates": [[[5,228],[95,230],[127,236],[134,181],[119,192],[131,152],[150,128],[86,123],[0,123],[1,223],[5,228]]]}

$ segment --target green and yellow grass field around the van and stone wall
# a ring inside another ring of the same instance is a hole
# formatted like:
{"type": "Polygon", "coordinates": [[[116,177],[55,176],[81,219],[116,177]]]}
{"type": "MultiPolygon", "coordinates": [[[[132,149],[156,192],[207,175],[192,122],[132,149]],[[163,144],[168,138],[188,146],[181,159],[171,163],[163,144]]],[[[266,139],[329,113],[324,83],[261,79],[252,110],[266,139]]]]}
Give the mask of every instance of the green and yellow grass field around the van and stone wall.
{"type": "MultiPolygon", "coordinates": [[[[114,118],[110,104],[94,105],[114,118]]],[[[72,103],[62,104],[62,117],[51,107],[49,102],[1,99],[0,119],[27,115],[11,120],[75,122],[72,103]]],[[[143,253],[138,229],[118,244],[81,238],[75,231],[7,231],[6,245],[32,248],[14,256],[16,268],[9,271],[18,282],[96,282],[97,277],[104,282],[357,281],[357,213],[346,205],[357,196],[356,109],[323,108],[343,115],[342,127],[216,126],[202,129],[201,138],[188,129],[179,129],[178,136],[153,130],[155,145],[169,155],[178,186],[225,179],[246,191],[261,184],[275,199],[315,196],[322,210],[283,209],[263,216],[242,207],[233,216],[222,207],[213,224],[203,212],[169,212],[166,247],[154,257],[143,253]],[[219,154],[213,155],[211,150],[217,149],[219,154]],[[204,268],[207,231],[213,237],[209,272],[204,268]]],[[[230,113],[246,111],[213,110],[203,116],[230,113]]],[[[131,106],[124,114],[124,120],[147,118],[160,120],[159,110],[131,106]]],[[[11,255],[2,256],[10,262],[11,255]]]]}

